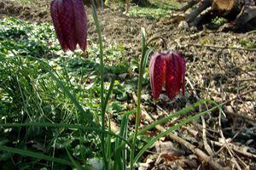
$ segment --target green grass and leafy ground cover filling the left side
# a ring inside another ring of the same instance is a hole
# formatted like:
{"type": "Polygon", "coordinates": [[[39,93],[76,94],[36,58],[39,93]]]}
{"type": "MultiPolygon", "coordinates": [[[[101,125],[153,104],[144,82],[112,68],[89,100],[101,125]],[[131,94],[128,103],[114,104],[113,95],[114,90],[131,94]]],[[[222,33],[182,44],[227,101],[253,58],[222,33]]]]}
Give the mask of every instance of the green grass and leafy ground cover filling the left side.
{"type": "MultiPolygon", "coordinates": [[[[49,24],[36,25],[15,18],[0,20],[0,116],[3,122],[42,122],[84,124],[80,111],[73,100],[63,93],[63,89],[49,74],[49,68],[38,58],[51,65],[55,76],[61,80],[67,90],[78,99],[85,114],[97,117],[100,109],[99,62],[96,59],[98,48],[91,44],[90,59],[84,59],[79,50],[75,53],[63,53],[55,38],[53,27],[49,24]],[[94,57],[95,56],[95,57],[94,57]]],[[[122,74],[128,64],[115,65],[122,58],[124,49],[120,44],[104,49],[109,56],[108,74],[122,74]]],[[[109,83],[105,83],[109,86],[109,83]]],[[[119,83],[119,88],[124,86],[119,83]]],[[[123,93],[123,92],[122,92],[123,93]]],[[[119,91],[113,95],[122,94],[119,91]]],[[[119,108],[119,111],[123,111],[119,108]]],[[[10,127],[0,128],[1,145],[9,145],[21,150],[44,154],[69,160],[69,150],[75,160],[86,164],[86,159],[101,156],[101,143],[94,132],[48,127],[10,127]]],[[[20,162],[20,168],[53,167],[63,169],[58,162],[37,161],[29,158],[31,164],[22,164],[26,156],[15,156],[7,151],[0,152],[2,167],[10,168],[20,162]]],[[[54,160],[52,160],[54,161],[54,160]]],[[[66,165],[67,166],[67,165],[66,165]]]]}

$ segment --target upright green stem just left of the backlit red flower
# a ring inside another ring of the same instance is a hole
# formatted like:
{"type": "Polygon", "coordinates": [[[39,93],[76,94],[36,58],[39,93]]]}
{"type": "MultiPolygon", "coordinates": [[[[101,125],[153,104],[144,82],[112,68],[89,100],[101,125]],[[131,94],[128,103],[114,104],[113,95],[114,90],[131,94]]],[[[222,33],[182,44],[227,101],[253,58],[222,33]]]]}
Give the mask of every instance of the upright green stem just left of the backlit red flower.
{"type": "Polygon", "coordinates": [[[141,116],[141,96],[142,96],[142,88],[143,88],[143,63],[144,63],[144,57],[146,53],[146,45],[145,45],[145,28],[142,28],[142,59],[139,65],[139,79],[138,79],[138,87],[137,87],[137,114],[136,114],[136,123],[135,123],[135,133],[133,135],[132,139],[132,145],[131,145],[131,155],[130,155],[130,169],[134,169],[134,153],[135,153],[135,146],[137,142],[137,134],[138,134],[138,127],[140,123],[140,116],[141,116]]]}

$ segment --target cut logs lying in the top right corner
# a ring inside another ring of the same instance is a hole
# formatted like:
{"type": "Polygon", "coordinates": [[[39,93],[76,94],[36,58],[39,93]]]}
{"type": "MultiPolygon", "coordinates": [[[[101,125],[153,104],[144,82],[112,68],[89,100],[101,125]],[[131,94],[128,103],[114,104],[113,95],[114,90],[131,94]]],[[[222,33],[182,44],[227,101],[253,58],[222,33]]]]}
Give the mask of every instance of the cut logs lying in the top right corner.
{"type": "Polygon", "coordinates": [[[192,8],[191,12],[184,14],[184,20],[189,26],[197,26],[209,14],[235,20],[230,25],[234,28],[256,20],[256,0],[189,0],[189,3],[180,8],[180,11],[184,13],[189,8],[192,8]],[[192,8],[193,6],[196,7],[192,8]]]}

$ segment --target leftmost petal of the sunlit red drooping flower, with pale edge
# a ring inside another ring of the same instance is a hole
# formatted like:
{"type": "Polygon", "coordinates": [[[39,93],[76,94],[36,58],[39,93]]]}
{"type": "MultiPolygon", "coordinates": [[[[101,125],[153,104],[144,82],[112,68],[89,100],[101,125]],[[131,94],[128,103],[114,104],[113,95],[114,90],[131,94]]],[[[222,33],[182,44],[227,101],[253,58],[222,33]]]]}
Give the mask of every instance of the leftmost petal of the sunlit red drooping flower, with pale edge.
{"type": "Polygon", "coordinates": [[[166,59],[159,53],[151,56],[149,63],[150,85],[154,99],[158,99],[165,82],[166,59]]]}

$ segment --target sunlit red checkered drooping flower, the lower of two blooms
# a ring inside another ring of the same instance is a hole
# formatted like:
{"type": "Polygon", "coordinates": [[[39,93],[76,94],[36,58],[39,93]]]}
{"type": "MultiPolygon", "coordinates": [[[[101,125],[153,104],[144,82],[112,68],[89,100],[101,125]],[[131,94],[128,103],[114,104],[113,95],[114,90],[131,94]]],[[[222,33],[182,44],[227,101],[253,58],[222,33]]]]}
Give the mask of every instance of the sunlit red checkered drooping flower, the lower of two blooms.
{"type": "Polygon", "coordinates": [[[169,99],[174,99],[180,88],[184,95],[185,67],[183,54],[177,52],[156,52],[151,56],[149,74],[154,99],[159,98],[165,82],[169,99]]]}

